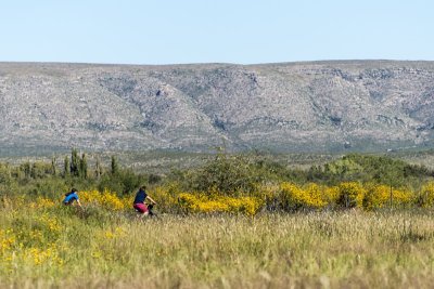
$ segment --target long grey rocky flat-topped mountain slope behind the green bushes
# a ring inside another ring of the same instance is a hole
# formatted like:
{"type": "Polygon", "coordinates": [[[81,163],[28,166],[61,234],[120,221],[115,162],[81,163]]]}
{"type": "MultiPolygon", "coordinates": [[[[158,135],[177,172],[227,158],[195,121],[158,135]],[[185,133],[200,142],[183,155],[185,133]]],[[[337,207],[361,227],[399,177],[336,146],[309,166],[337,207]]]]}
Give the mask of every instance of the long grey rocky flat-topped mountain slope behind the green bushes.
{"type": "Polygon", "coordinates": [[[434,144],[434,62],[0,63],[0,153],[434,144]]]}

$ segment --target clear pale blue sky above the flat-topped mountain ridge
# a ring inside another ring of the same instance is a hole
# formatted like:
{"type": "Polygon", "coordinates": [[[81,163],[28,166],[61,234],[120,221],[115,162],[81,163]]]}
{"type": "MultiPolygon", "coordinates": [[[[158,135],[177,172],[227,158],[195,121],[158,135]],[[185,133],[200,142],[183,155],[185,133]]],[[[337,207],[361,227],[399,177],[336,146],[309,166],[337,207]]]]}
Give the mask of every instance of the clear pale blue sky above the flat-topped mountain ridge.
{"type": "Polygon", "coordinates": [[[4,0],[0,62],[434,61],[431,0],[4,0]]]}

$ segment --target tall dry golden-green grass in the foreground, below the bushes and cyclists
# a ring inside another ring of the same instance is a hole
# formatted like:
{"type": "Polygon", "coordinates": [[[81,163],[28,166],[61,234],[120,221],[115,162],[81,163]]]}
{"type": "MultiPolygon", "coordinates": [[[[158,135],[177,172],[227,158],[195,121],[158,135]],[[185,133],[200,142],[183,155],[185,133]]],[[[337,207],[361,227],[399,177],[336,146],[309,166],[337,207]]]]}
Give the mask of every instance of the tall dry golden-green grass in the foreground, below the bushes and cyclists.
{"type": "Polygon", "coordinates": [[[3,197],[1,288],[431,288],[431,210],[161,214],[3,197]],[[26,208],[27,207],[27,208],[26,208]],[[77,209],[77,210],[76,210],[77,209]]]}

